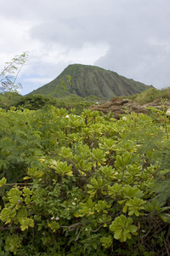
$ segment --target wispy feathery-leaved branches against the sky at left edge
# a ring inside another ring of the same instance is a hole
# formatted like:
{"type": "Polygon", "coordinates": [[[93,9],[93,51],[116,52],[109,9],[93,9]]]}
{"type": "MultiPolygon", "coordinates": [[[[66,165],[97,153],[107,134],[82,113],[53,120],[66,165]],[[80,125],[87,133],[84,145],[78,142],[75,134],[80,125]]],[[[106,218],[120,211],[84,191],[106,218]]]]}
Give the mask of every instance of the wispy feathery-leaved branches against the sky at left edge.
{"type": "Polygon", "coordinates": [[[0,73],[0,92],[22,89],[22,84],[16,83],[16,79],[27,60],[27,56],[28,53],[25,51],[21,55],[15,55],[12,61],[5,63],[7,66],[0,73]]]}

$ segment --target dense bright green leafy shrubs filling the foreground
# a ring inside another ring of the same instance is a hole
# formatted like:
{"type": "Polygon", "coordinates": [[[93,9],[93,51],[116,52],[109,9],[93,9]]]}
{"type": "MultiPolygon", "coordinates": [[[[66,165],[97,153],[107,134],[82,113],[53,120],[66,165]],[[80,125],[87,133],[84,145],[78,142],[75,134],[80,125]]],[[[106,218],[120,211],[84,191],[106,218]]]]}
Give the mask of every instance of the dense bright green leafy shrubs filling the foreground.
{"type": "Polygon", "coordinates": [[[0,109],[0,255],[169,255],[170,124],[0,109]]]}

